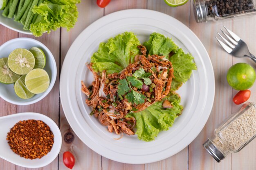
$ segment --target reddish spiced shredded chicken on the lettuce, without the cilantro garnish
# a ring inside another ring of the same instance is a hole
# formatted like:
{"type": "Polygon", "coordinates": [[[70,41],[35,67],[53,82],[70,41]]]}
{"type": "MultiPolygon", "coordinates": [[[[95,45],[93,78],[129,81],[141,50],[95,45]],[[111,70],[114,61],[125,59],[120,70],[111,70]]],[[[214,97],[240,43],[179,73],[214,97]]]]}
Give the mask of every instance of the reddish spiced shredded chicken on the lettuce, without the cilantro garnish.
{"type": "MultiPolygon", "coordinates": [[[[106,76],[106,72],[103,71],[100,77],[92,69],[92,64],[89,64],[88,69],[94,75],[95,81],[88,88],[83,81],[81,82],[81,90],[88,96],[85,102],[93,107],[92,114],[99,119],[102,125],[108,127],[109,132],[134,135],[133,128],[136,125],[136,119],[130,115],[126,117],[126,115],[130,112],[140,112],[146,109],[155,102],[161,101],[170,92],[173,78],[172,63],[166,60],[164,56],[146,56],[147,49],[142,45],[138,48],[141,54],[135,56],[135,62],[129,64],[121,72],[106,76]],[[144,103],[131,103],[124,95],[118,95],[119,81],[127,76],[132,76],[136,70],[141,68],[145,72],[151,73],[148,77],[151,84],[147,87],[150,90],[144,91],[143,88],[138,89],[132,86],[132,90],[144,95],[146,99],[144,103]]],[[[164,106],[171,107],[167,101],[164,106]]]]}

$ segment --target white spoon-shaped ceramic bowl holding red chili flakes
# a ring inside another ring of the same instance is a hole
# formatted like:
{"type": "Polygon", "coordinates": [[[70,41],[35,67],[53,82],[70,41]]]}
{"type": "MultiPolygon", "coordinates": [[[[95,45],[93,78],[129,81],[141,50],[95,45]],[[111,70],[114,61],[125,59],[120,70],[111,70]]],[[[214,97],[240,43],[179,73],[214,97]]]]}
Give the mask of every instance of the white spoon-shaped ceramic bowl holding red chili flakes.
{"type": "Polygon", "coordinates": [[[56,123],[50,119],[49,117],[39,114],[39,113],[17,113],[11,114],[8,116],[0,117],[0,158],[5,159],[15,165],[26,167],[26,168],[40,168],[43,166],[47,166],[49,163],[54,161],[54,159],[58,156],[61,150],[61,131],[56,125],[56,123]],[[52,145],[52,150],[42,157],[41,159],[25,159],[20,157],[20,155],[14,153],[6,140],[7,133],[10,131],[16,123],[23,120],[40,120],[47,124],[52,133],[54,134],[54,144],[52,145]]]}

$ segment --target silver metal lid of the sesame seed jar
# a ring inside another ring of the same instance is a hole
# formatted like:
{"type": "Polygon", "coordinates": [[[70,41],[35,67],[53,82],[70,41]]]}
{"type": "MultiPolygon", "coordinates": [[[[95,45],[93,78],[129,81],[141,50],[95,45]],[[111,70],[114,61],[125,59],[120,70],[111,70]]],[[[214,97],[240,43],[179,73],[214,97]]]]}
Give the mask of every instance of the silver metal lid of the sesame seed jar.
{"type": "Polygon", "coordinates": [[[203,146],[217,162],[225,159],[224,154],[222,154],[220,150],[218,150],[218,148],[212,143],[210,139],[207,139],[203,146]]]}

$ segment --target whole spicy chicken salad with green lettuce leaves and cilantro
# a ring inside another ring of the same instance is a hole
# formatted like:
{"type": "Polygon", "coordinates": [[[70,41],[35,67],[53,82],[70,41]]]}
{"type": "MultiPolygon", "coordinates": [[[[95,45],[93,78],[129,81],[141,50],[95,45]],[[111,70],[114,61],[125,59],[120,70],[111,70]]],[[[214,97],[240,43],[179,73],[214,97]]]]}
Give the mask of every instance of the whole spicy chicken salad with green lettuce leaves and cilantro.
{"type": "Polygon", "coordinates": [[[81,83],[91,115],[109,132],[144,141],[168,130],[182,113],[175,91],[196,69],[191,54],[170,38],[152,33],[142,45],[132,32],[101,42],[87,67],[95,81],[81,83]]]}

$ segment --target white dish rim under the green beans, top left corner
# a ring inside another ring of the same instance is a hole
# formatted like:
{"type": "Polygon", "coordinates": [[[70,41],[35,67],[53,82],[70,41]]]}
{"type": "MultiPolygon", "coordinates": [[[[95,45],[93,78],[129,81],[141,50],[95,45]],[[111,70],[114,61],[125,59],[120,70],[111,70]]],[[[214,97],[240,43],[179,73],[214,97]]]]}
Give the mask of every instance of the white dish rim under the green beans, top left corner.
{"type": "Polygon", "coordinates": [[[15,22],[13,18],[7,18],[2,16],[2,12],[0,11],[0,24],[4,27],[7,27],[9,29],[12,29],[13,31],[17,31],[23,34],[29,34],[32,35],[32,33],[29,30],[24,30],[23,25],[19,22],[15,22]]]}

